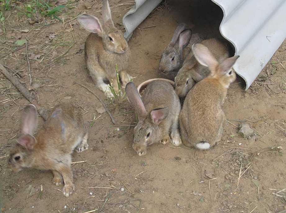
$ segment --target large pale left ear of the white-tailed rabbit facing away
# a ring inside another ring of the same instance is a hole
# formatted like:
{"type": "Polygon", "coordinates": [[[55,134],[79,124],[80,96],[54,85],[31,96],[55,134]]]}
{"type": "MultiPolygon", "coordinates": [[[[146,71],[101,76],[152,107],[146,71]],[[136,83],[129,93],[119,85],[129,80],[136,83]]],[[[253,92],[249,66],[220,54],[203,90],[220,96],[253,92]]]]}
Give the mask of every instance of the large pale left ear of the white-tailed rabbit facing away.
{"type": "Polygon", "coordinates": [[[203,66],[209,67],[211,72],[213,72],[214,67],[219,64],[210,50],[202,44],[194,44],[192,51],[197,61],[203,66]]]}

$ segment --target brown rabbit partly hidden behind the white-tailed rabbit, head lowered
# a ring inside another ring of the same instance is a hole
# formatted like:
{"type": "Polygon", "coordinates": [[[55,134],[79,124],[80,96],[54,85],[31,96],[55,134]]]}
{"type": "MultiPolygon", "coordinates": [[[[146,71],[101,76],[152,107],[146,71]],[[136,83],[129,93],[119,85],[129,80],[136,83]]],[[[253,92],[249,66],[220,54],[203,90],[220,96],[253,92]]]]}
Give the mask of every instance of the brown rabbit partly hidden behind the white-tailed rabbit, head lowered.
{"type": "MultiPolygon", "coordinates": [[[[230,46],[222,39],[211,38],[201,42],[205,45],[215,58],[222,62],[229,57],[230,46]]],[[[184,98],[188,91],[193,88],[195,83],[201,81],[210,74],[208,67],[197,62],[192,51],[184,60],[182,68],[180,68],[175,77],[175,91],[180,98],[184,98]]]]}

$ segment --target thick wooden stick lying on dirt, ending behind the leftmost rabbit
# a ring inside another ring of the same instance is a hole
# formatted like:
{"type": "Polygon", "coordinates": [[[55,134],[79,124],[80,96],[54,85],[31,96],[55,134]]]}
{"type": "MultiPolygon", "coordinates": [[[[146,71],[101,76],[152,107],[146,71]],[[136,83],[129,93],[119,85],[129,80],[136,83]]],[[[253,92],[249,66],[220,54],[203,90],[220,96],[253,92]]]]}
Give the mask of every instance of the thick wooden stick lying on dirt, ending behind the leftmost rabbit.
{"type": "Polygon", "coordinates": [[[0,63],[0,69],[1,72],[4,74],[4,76],[6,76],[11,83],[19,90],[19,92],[31,103],[34,104],[35,107],[38,110],[38,113],[43,117],[44,120],[48,119],[48,113],[47,110],[45,110],[44,108],[40,107],[40,105],[38,104],[37,100],[34,98],[33,95],[30,94],[30,92],[28,91],[28,89],[26,89],[20,82],[18,79],[16,79],[14,76],[12,76],[7,69],[0,63]]]}

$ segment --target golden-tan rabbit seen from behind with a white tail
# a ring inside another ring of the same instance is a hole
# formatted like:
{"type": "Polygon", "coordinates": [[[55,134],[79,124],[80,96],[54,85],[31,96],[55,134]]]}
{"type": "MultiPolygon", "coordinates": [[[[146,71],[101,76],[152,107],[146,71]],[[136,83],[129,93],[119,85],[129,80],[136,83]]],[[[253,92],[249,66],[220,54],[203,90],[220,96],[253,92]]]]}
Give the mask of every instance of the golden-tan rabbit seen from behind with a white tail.
{"type": "Polygon", "coordinates": [[[222,103],[236,74],[232,66],[239,56],[221,63],[202,44],[194,44],[192,51],[197,61],[210,70],[210,75],[191,89],[179,116],[181,139],[184,145],[209,149],[220,141],[225,114],[222,103]]]}

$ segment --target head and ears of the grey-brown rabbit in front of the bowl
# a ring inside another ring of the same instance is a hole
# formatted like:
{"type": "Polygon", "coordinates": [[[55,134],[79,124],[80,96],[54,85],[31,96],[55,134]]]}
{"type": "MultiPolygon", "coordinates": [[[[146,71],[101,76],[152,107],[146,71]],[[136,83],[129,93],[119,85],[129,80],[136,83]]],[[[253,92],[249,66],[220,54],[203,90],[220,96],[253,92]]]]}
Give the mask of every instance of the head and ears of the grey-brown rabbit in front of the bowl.
{"type": "Polygon", "coordinates": [[[129,82],[126,85],[126,95],[134,107],[135,113],[138,116],[138,124],[134,128],[134,141],[132,148],[139,156],[147,153],[147,146],[161,139],[161,130],[159,124],[165,120],[169,114],[168,108],[153,109],[148,113],[140,98],[140,95],[134,85],[129,82]]]}

